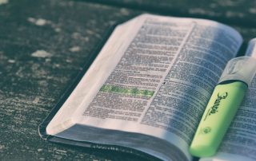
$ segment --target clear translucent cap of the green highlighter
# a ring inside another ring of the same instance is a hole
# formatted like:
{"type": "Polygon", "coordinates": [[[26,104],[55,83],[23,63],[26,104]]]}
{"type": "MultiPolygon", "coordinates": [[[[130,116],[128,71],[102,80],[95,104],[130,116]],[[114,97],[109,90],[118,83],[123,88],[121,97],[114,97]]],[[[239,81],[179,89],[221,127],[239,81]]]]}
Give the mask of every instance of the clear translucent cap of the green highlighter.
{"type": "Polygon", "coordinates": [[[255,73],[256,59],[254,57],[236,57],[227,63],[218,83],[242,81],[249,85],[255,73]]]}

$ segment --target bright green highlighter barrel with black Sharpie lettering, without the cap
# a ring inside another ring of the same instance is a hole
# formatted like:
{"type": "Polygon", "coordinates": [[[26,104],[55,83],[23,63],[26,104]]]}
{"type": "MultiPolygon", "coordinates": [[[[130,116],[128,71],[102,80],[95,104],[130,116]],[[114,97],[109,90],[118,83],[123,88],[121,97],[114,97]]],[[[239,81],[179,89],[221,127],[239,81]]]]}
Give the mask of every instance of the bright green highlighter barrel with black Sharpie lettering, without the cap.
{"type": "Polygon", "coordinates": [[[216,86],[190,145],[191,155],[207,157],[216,153],[246,90],[247,84],[242,81],[216,86]]]}

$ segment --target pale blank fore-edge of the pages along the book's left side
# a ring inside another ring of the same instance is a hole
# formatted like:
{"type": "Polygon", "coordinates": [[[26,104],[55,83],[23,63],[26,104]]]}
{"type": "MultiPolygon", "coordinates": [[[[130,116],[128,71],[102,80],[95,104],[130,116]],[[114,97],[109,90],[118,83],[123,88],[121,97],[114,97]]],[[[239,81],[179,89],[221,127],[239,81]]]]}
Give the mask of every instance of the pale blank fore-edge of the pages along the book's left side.
{"type": "MultiPolygon", "coordinates": [[[[95,63],[90,66],[86,74],[82,77],[82,80],[78,83],[77,87],[74,88],[74,91],[62,105],[62,108],[58,110],[57,114],[54,116],[54,119],[50,121],[49,126],[46,128],[46,132],[55,135],[75,124],[74,120],[72,119],[74,111],[78,109],[82,101],[85,100],[85,96],[88,96],[88,93],[90,94],[90,91],[94,90],[94,86],[97,85],[97,82],[100,81],[99,83],[101,84],[102,80],[94,77],[94,73],[99,73],[98,70],[100,69],[101,64],[110,65],[110,62],[107,63],[106,59],[110,61],[112,57],[114,57],[114,54],[111,53],[115,53],[118,49],[120,49],[123,41],[126,40],[125,38],[122,38],[126,36],[123,33],[125,33],[124,31],[128,30],[127,27],[129,27],[125,26],[126,23],[117,26],[113,33],[111,33],[110,38],[106,41],[106,45],[103,46],[101,52],[98,54],[98,57],[96,57],[94,60],[95,62],[98,62],[98,66],[95,66],[95,63]],[[104,63],[104,61],[106,63],[104,63]]],[[[102,74],[106,74],[107,70],[110,73],[110,69],[107,68],[106,70],[100,72],[102,72],[102,74]]]]}

